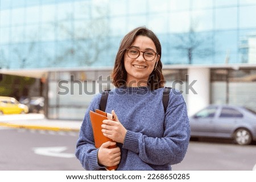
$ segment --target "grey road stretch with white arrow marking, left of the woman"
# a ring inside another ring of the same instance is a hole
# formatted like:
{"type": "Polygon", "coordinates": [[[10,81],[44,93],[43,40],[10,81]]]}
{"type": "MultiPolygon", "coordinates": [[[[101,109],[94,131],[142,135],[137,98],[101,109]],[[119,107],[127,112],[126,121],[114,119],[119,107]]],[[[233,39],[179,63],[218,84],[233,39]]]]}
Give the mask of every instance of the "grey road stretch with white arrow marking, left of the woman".
{"type": "Polygon", "coordinates": [[[83,170],[75,158],[77,132],[0,127],[0,170],[83,170]]]}

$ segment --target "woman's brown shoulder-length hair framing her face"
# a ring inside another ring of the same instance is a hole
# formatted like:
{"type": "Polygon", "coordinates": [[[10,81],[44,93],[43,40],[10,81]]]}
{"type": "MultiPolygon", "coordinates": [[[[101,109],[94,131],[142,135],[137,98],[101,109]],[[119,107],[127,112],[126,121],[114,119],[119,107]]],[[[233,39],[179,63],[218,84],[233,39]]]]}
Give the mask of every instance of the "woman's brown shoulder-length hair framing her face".
{"type": "Polygon", "coordinates": [[[155,35],[155,33],[146,27],[135,28],[129,33],[127,33],[125,37],[123,37],[117,52],[117,56],[115,57],[114,69],[112,72],[113,84],[115,87],[127,86],[126,85],[127,72],[125,70],[124,57],[125,57],[126,49],[130,48],[130,46],[134,43],[135,38],[139,35],[149,37],[154,42],[156,47],[156,52],[159,55],[159,61],[156,66],[156,69],[154,69],[150,74],[147,84],[150,87],[150,90],[162,88],[164,86],[164,77],[162,74],[161,44],[158,37],[155,35]]]}

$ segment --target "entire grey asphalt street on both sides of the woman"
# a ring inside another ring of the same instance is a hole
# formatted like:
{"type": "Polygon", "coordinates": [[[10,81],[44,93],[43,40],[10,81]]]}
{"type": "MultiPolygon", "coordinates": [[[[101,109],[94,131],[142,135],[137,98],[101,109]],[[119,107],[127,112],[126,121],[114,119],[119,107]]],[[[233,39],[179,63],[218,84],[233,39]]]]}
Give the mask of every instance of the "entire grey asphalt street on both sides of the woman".
{"type": "MultiPolygon", "coordinates": [[[[77,132],[0,127],[0,170],[83,170],[75,158],[77,132]]],[[[253,170],[256,145],[230,141],[191,141],[179,170],[253,170]]]]}

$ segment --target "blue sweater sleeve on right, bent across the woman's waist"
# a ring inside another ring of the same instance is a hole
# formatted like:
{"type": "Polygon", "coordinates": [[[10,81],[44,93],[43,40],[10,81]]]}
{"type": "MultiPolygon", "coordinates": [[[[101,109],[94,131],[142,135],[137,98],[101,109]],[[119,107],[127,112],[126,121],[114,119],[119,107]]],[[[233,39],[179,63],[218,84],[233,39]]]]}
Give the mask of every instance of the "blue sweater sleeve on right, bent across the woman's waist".
{"type": "Polygon", "coordinates": [[[190,138],[187,107],[180,94],[170,94],[161,138],[128,130],[123,148],[139,155],[145,163],[177,164],[183,160],[190,138]]]}

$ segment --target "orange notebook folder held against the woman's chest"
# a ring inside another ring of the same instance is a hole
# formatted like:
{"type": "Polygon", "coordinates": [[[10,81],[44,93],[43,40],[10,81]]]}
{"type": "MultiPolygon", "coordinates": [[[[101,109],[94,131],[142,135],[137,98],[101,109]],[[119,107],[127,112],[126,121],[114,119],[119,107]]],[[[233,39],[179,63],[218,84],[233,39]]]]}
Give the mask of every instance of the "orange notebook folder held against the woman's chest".
{"type": "MultiPolygon", "coordinates": [[[[114,120],[114,116],[99,109],[96,109],[95,112],[90,111],[90,122],[92,123],[94,143],[96,148],[99,148],[102,143],[112,141],[112,139],[105,137],[101,132],[101,125],[103,120],[114,120]]],[[[109,148],[114,147],[116,147],[116,145],[110,146],[109,148]]],[[[112,171],[117,169],[117,166],[106,167],[106,169],[112,171]]]]}

